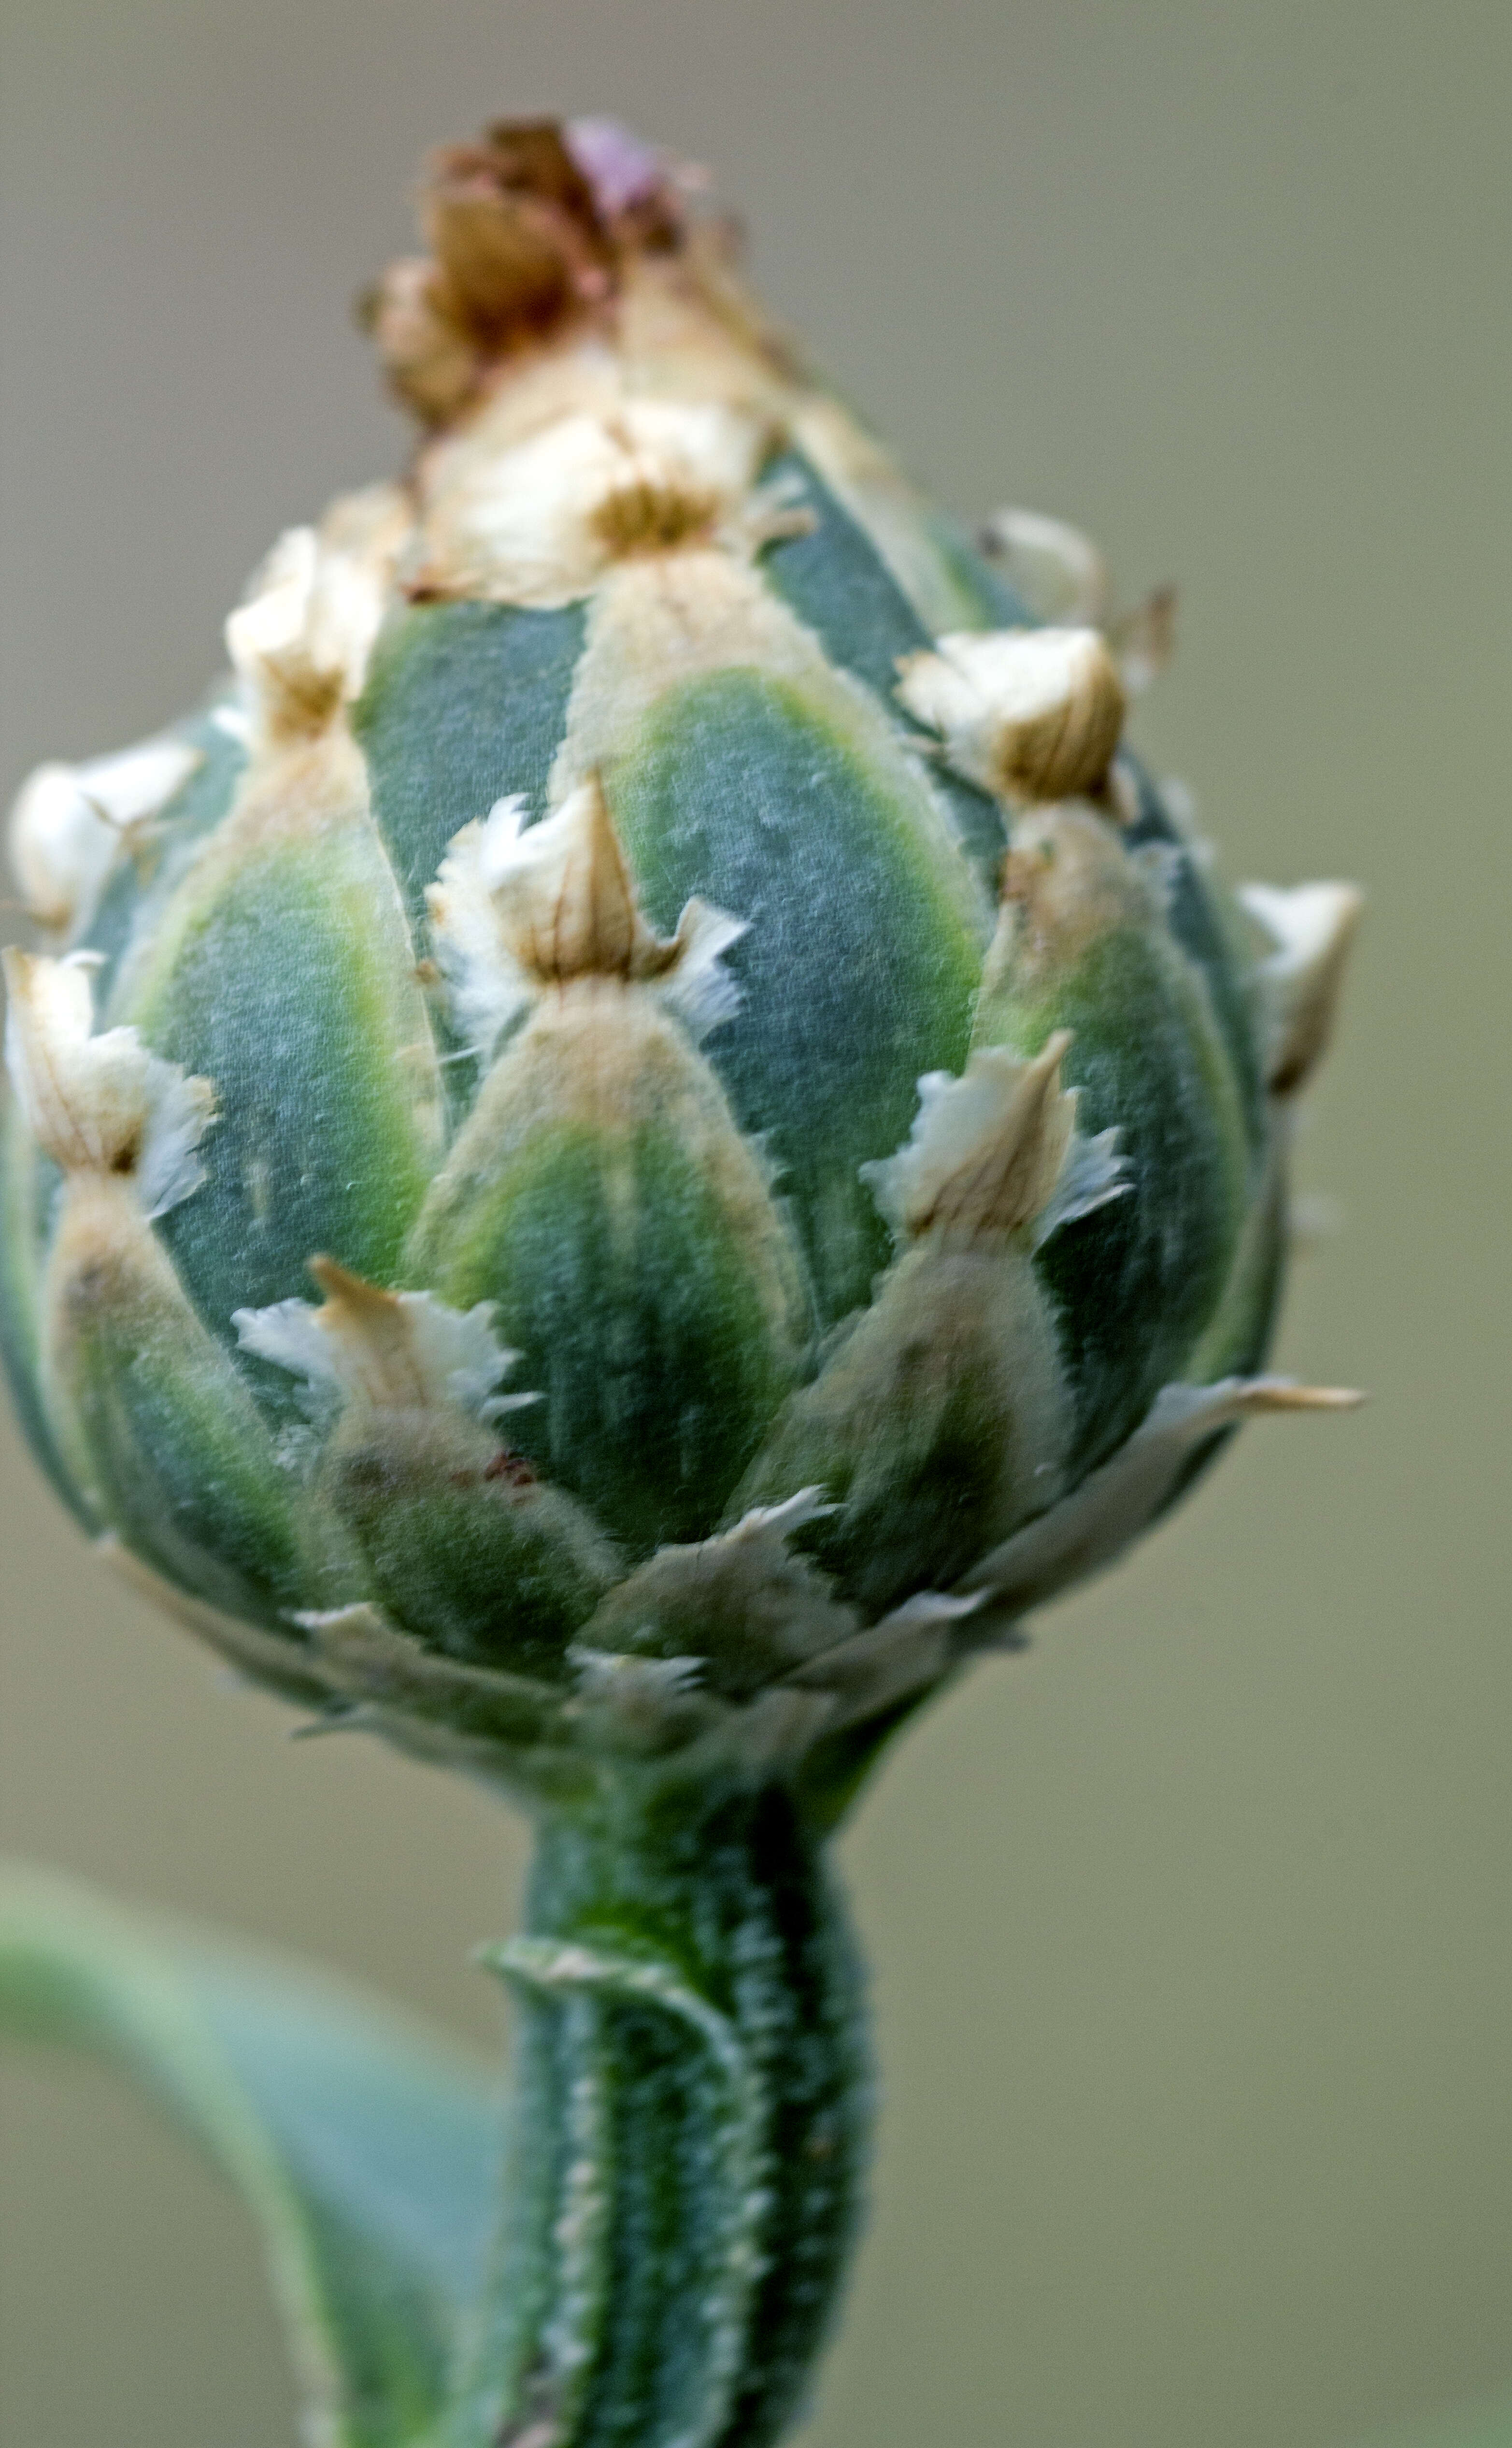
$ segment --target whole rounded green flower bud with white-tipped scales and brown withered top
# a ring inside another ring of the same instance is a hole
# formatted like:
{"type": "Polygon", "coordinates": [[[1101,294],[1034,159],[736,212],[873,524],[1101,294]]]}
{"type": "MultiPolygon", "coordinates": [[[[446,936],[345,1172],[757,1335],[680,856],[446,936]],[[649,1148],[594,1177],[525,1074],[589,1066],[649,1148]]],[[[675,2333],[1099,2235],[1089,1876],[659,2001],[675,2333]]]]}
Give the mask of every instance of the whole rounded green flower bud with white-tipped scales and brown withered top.
{"type": "Polygon", "coordinates": [[[44,766],[0,1317],[247,1672],[489,1775],[854,1777],[1265,1378],[1348,886],[1125,744],[1169,595],[976,553],[609,122],[438,154],[423,438],[208,707],[44,766]]]}

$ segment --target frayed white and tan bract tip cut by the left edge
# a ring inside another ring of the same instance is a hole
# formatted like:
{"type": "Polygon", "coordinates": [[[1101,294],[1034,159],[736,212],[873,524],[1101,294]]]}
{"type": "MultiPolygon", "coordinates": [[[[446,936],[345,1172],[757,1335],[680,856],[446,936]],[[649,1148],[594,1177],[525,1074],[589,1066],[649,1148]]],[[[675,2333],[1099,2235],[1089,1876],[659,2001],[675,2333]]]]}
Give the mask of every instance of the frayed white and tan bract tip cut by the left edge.
{"type": "Polygon", "coordinates": [[[135,1028],[93,1036],[93,960],[7,950],[5,1060],[37,1146],[64,1173],[130,1175],[147,1214],[201,1180],[215,1089],[161,1062],[135,1028]]]}

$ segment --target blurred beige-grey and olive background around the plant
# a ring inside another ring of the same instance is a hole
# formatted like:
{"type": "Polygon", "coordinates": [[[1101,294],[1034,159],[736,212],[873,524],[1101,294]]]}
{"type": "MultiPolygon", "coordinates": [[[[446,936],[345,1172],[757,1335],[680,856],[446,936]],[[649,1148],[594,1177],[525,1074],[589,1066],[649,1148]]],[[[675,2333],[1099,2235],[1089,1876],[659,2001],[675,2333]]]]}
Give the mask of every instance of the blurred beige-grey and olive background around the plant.
{"type": "MultiPolygon", "coordinates": [[[[0,786],[191,700],[394,465],[347,304],[421,149],[614,110],[959,509],[1182,585],[1138,717],[1233,876],[1373,913],[1343,1231],[1248,1430],[915,1731],[844,1856],[871,2237],[807,2448],[1346,2448],[1512,2384],[1505,0],[5,0],[0,786]]],[[[0,1449],[5,1843],[475,2034],[521,1831],[98,1577],[0,1449]]],[[[289,2448],[240,2213],[103,2076],[5,2086],[5,2448],[289,2448]]]]}

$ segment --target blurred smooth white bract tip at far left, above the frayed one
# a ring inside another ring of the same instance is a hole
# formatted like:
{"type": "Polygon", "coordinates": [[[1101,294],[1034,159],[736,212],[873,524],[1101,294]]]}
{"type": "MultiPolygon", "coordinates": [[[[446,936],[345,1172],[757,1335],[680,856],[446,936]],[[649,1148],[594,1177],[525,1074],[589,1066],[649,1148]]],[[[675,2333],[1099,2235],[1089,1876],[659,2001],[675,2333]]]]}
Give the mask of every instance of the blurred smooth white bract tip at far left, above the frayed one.
{"type": "Polygon", "coordinates": [[[10,810],[10,864],[37,925],[88,925],[115,862],[201,764],[186,739],[144,739],[120,756],[37,766],[10,810]]]}

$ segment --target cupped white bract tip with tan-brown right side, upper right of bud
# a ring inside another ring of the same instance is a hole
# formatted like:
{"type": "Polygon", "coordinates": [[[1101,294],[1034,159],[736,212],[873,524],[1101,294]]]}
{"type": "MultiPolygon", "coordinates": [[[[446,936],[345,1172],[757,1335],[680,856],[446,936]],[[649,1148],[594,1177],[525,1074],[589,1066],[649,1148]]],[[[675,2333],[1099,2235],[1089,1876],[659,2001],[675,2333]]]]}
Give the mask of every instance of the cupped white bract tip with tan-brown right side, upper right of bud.
{"type": "Polygon", "coordinates": [[[1125,715],[1096,629],[957,632],[900,663],[898,695],[966,781],[1015,803],[1096,791],[1125,715]]]}

